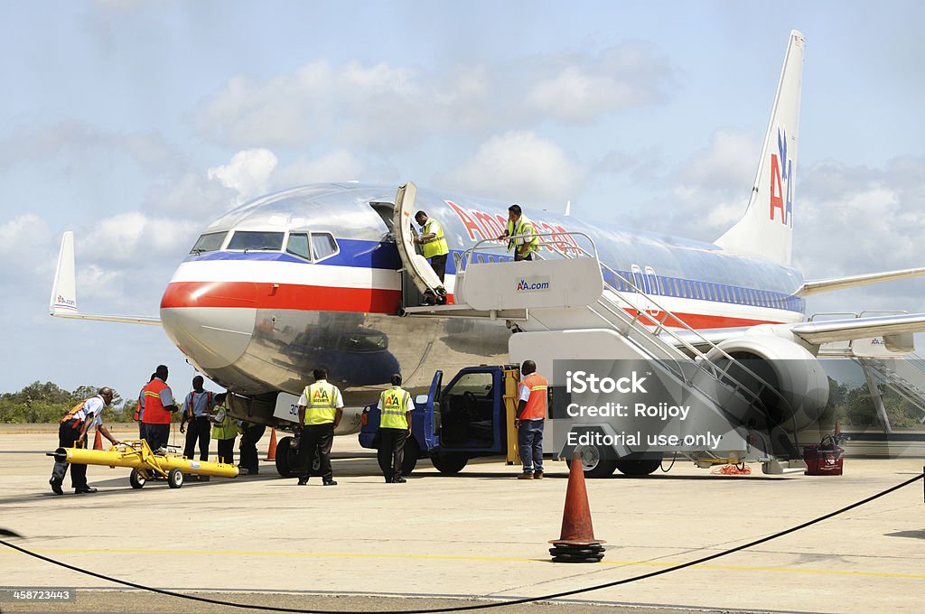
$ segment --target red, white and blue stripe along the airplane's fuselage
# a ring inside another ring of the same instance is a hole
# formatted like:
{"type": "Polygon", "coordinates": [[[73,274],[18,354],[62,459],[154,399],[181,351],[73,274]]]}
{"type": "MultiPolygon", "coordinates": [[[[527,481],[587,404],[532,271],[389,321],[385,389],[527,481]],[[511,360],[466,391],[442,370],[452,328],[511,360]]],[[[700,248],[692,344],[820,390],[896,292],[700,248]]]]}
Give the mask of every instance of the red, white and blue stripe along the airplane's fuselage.
{"type": "MultiPolygon", "coordinates": [[[[161,308],[397,314],[401,306],[401,260],[395,245],[376,240],[336,240],[339,252],[317,263],[286,252],[191,254],[168,285],[161,308]]],[[[446,280],[450,296],[461,255],[462,250],[450,251],[446,280]]],[[[615,270],[633,279],[662,307],[694,328],[795,322],[804,312],[803,299],[794,294],[654,272],[615,270]]],[[[635,297],[618,276],[606,272],[605,279],[628,298],[635,297]]]]}

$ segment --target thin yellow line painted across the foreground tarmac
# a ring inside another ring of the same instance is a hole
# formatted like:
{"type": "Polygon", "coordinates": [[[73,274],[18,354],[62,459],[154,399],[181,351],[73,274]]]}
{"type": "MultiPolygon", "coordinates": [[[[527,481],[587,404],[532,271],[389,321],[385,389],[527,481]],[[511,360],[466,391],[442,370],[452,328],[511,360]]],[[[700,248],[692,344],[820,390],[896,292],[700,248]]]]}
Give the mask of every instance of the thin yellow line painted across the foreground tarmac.
{"type": "MultiPolygon", "coordinates": [[[[406,554],[349,554],[329,552],[255,552],[247,550],[143,550],[140,548],[53,548],[35,550],[39,554],[169,554],[187,556],[222,556],[222,557],[289,557],[297,559],[426,559],[426,560],[485,560],[506,562],[549,562],[548,559],[515,559],[512,557],[462,557],[440,555],[406,555],[406,554]]],[[[604,565],[626,565],[639,567],[672,567],[676,562],[656,562],[647,560],[602,560],[604,565]]],[[[842,571],[815,570],[794,567],[752,567],[747,565],[692,565],[690,569],[725,570],[725,571],[775,571],[785,573],[830,573],[833,575],[872,576],[879,578],[907,578],[925,580],[925,574],[889,573],[886,571],[842,571]]]]}

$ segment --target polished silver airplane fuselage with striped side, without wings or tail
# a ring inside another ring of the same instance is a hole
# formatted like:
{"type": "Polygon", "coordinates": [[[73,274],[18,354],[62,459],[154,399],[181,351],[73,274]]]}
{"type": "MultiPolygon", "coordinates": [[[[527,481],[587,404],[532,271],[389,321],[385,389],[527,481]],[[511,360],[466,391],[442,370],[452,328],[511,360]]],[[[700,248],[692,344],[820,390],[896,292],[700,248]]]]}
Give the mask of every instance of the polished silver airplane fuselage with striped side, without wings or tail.
{"type": "MultiPolygon", "coordinates": [[[[166,288],[161,320],[167,335],[205,375],[245,396],[299,394],[323,366],[347,402],[358,404],[375,399],[393,373],[420,389],[436,369],[506,361],[511,333],[503,323],[399,316],[394,198],[394,187],[316,184],[216,219],[166,288]]],[[[417,192],[415,209],[440,222],[450,247],[450,296],[462,252],[501,234],[508,204],[417,192]]],[[[691,327],[802,319],[804,301],[796,291],[803,278],[791,267],[710,243],[528,207],[524,214],[537,232],[586,233],[602,263],[691,327]]],[[[638,300],[618,276],[608,276],[638,300]]]]}

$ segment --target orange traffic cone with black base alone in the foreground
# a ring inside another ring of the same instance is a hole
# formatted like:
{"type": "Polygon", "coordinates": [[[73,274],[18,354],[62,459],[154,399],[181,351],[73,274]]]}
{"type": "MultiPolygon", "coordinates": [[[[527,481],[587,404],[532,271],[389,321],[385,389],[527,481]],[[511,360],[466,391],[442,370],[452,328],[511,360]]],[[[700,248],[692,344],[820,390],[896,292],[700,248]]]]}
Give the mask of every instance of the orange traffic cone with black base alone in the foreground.
{"type": "Polygon", "coordinates": [[[595,539],[591,510],[587,504],[585,471],[581,454],[575,452],[569,462],[569,485],[565,491],[562,529],[559,539],[550,539],[549,548],[554,563],[596,563],[604,558],[604,543],[595,539]]]}

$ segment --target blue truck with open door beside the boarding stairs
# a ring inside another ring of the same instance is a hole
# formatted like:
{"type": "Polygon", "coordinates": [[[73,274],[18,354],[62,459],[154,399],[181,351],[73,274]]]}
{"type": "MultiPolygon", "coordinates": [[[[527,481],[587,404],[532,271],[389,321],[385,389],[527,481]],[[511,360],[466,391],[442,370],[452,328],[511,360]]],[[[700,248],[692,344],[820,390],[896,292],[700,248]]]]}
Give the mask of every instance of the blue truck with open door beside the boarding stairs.
{"type": "MultiPolygon", "coordinates": [[[[401,473],[410,474],[419,459],[429,458],[440,473],[459,473],[469,459],[505,456],[519,461],[516,364],[466,367],[446,387],[443,372],[434,375],[427,394],[413,399],[412,436],[405,442],[401,473]]],[[[376,448],[379,410],[364,409],[360,445],[376,448]]]]}

